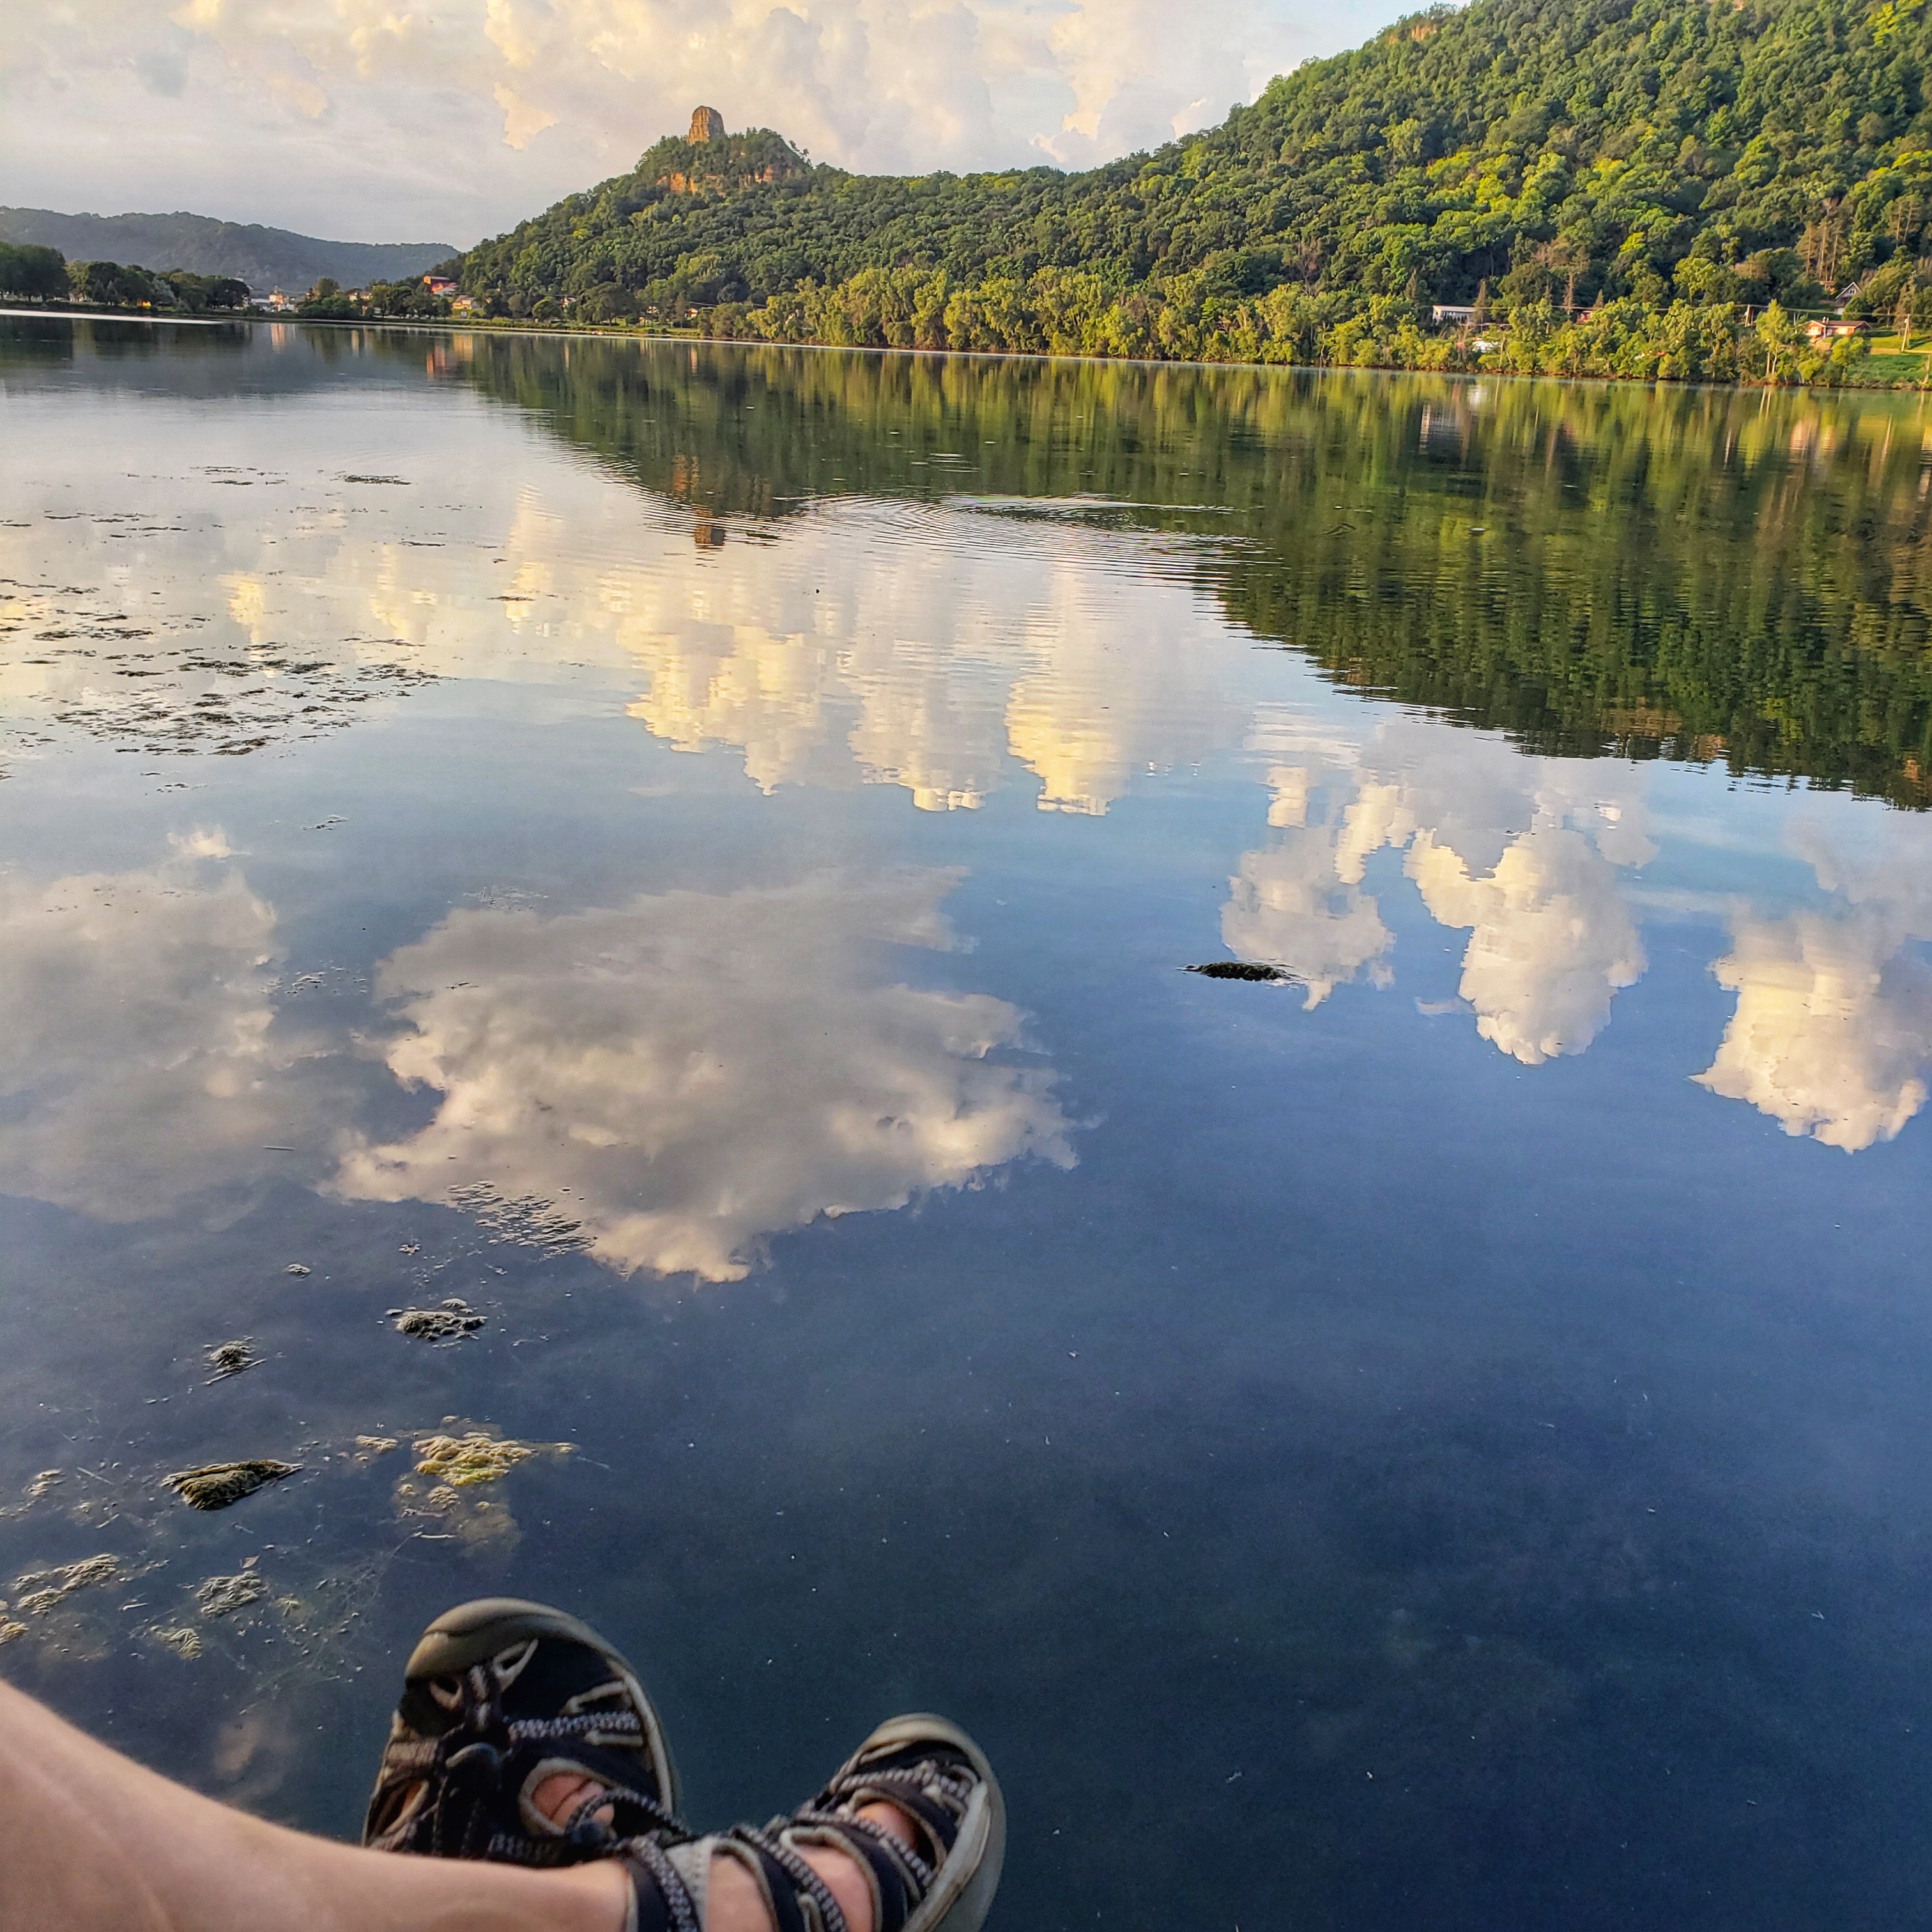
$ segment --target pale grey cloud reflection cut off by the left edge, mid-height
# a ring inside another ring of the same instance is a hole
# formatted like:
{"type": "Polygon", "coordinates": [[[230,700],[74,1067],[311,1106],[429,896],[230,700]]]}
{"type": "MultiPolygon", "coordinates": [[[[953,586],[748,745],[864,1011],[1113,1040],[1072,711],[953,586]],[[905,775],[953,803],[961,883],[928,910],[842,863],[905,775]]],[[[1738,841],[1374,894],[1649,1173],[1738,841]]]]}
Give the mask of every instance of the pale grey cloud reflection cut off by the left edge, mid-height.
{"type": "Polygon", "coordinates": [[[0,875],[0,1188],[137,1221],[313,1140],[313,1055],[276,1030],[274,908],[220,831],[151,871],[0,875]]]}

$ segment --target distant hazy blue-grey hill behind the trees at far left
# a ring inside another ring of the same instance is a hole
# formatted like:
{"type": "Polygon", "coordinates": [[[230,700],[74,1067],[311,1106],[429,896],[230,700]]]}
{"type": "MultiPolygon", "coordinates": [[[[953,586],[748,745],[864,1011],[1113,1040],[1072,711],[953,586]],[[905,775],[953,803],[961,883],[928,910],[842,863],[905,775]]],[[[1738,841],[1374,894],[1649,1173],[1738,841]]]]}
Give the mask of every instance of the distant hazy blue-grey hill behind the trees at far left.
{"type": "Polygon", "coordinates": [[[299,294],[325,274],[344,288],[423,274],[448,261],[446,242],[323,242],[218,222],[209,214],[56,214],[52,209],[0,209],[0,242],[41,242],[70,261],[131,261],[143,269],[232,274],[257,294],[299,294]]]}

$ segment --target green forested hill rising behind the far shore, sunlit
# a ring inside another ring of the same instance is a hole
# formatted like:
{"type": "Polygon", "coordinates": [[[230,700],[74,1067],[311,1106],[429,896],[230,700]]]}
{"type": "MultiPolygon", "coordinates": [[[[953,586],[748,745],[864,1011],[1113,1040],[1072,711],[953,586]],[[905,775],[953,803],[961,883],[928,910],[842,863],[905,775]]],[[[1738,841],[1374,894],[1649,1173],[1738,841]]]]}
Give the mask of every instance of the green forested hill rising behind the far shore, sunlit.
{"type": "Polygon", "coordinates": [[[1540,311],[1538,340],[1571,309],[1654,328],[1675,303],[1708,359],[1737,328],[1706,311],[1857,282],[1889,319],[1917,290],[1928,58],[1924,0],[1474,0],[1090,174],[661,141],[462,280],[518,315],[570,298],[794,340],[1335,361],[1418,359],[1370,350],[1428,334],[1432,303],[1484,299],[1519,334],[1540,311]]]}

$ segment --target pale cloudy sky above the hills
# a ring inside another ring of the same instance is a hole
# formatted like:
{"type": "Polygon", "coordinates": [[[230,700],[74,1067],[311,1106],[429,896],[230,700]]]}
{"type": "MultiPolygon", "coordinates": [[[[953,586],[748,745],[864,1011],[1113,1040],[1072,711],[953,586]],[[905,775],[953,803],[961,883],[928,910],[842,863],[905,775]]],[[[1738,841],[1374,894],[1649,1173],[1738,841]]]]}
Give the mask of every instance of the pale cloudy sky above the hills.
{"type": "Polygon", "coordinates": [[[1084,168],[1389,0],[8,0],[0,203],[468,247],[694,106],[867,172],[1084,168]]]}

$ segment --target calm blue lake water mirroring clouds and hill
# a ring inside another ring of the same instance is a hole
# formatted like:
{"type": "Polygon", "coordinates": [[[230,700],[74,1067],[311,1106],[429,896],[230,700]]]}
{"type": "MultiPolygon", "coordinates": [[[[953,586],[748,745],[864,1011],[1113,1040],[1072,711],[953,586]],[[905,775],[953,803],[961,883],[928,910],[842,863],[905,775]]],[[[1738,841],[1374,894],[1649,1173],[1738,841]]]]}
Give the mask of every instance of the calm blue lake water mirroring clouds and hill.
{"type": "Polygon", "coordinates": [[[508,1590],[709,1826],[958,1716],[1009,1932],[1924,1924],[1928,481],[0,323],[0,1669],[352,1833],[508,1590]]]}

